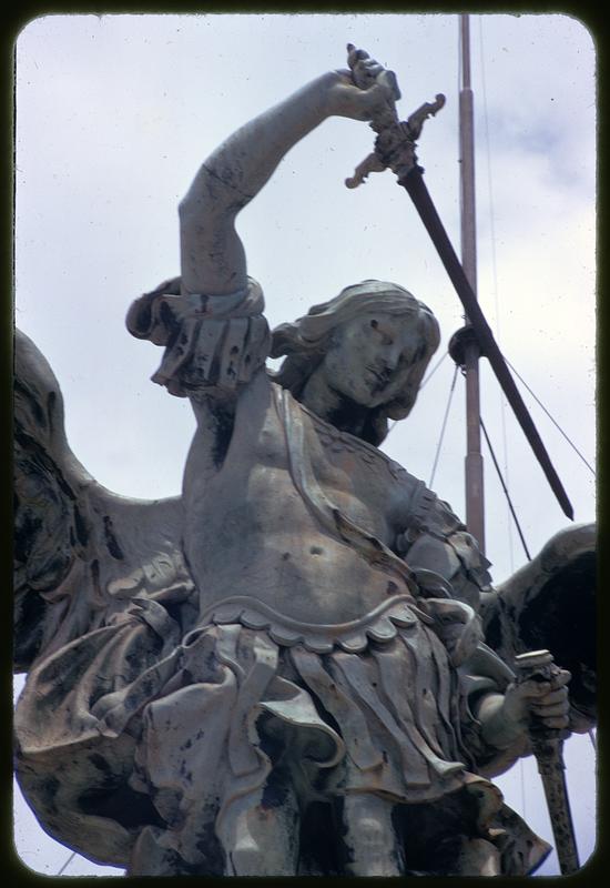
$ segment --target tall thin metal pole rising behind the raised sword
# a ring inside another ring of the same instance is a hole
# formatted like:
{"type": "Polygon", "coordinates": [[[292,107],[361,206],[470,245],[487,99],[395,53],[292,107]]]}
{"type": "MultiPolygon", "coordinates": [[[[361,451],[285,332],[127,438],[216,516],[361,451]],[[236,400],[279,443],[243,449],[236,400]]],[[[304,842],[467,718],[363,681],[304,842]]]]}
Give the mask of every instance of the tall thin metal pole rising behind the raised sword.
{"type": "MultiPolygon", "coordinates": [[[[475,115],[470,87],[469,17],[460,19],[459,144],[461,190],[461,264],[477,293],[477,222],[475,211],[475,115]]],[[[466,317],[468,323],[468,317],[466,317]]],[[[466,525],[485,552],[484,466],[480,437],[479,347],[470,337],[465,346],[466,372],[466,525]]]]}

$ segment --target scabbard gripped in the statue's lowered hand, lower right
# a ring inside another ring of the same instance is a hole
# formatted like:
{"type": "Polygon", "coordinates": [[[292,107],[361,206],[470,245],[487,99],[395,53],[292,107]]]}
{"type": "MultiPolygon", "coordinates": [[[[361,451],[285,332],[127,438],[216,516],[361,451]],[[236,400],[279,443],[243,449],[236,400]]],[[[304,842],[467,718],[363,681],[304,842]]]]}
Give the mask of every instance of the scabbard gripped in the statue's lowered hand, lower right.
{"type": "MultiPolygon", "coordinates": [[[[533,678],[552,684],[553,677],[559,673],[548,650],[530,650],[527,654],[519,654],[515,657],[515,666],[519,682],[533,678]]],[[[568,876],[576,872],[580,864],[566,786],[566,766],[563,764],[563,737],[566,735],[561,730],[547,728],[532,718],[529,736],[531,750],[545,787],[559,868],[561,875],[568,876]]]]}

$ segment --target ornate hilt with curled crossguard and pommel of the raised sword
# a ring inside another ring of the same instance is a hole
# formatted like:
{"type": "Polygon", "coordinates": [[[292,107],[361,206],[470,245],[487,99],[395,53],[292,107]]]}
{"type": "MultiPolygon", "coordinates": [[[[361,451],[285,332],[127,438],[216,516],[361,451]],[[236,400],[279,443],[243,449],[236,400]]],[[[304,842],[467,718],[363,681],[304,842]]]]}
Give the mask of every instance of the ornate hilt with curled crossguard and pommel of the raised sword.
{"type": "MultiPolygon", "coordinates": [[[[362,65],[358,67],[359,61],[369,58],[368,53],[357,50],[352,43],[347,44],[347,53],[354,83],[359,89],[368,89],[376,78],[366,69],[363,70],[362,65]]],[[[417,167],[416,140],[421,133],[425,121],[434,117],[445,104],[445,97],[438,93],[434,102],[424,102],[406,121],[399,121],[396,100],[400,98],[400,90],[396,74],[394,71],[383,71],[382,74],[388,80],[394,98],[388,99],[373,117],[369,125],[377,133],[375,151],[356,167],[353,176],[345,180],[347,188],[357,188],[369,173],[383,172],[388,167],[397,175],[399,184],[403,184],[411,170],[417,167]]]]}

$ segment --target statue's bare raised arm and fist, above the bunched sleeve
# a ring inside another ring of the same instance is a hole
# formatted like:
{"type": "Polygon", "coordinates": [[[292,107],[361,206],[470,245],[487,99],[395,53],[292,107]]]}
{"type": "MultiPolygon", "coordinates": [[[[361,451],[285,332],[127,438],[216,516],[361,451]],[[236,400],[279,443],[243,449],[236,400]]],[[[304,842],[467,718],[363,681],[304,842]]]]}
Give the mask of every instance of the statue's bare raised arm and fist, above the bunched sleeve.
{"type": "Polygon", "coordinates": [[[328,117],[369,120],[393,99],[392,79],[357,54],[352,71],[332,71],[246,123],[202,164],[180,204],[183,293],[223,295],[246,284],[246,259],[235,216],[263,188],[282,158],[328,117]],[[360,75],[360,77],[358,77],[360,75]]]}

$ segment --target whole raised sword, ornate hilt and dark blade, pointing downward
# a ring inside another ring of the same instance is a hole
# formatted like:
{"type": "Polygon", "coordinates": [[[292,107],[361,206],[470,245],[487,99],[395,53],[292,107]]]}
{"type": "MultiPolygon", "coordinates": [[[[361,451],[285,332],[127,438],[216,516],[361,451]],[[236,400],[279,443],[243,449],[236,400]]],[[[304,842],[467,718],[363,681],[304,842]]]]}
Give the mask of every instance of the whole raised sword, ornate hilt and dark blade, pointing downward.
{"type": "MultiPolygon", "coordinates": [[[[367,77],[365,71],[359,70],[358,67],[359,60],[368,58],[367,53],[363,50],[356,50],[352,43],[348,43],[347,52],[347,63],[352,69],[355,84],[360,87],[360,89],[367,89],[370,87],[370,78],[367,77]]],[[[475,333],[480,354],[485,355],[491,364],[506,398],[512,407],[515,416],[523,430],[526,438],[536,454],[563,513],[569,518],[573,518],[573,509],[563,490],[563,485],[555,471],[542,440],[538,434],[533,421],[529,415],[529,411],[523,403],[521,394],[498,347],[491,329],[481,312],[475,292],[447,236],[447,232],[445,231],[424,182],[424,170],[417,163],[417,155],[415,153],[416,139],[419,138],[426,119],[436,114],[436,112],[443,108],[445,104],[445,97],[438,94],[434,102],[426,102],[418,108],[408,120],[400,122],[395,105],[395,101],[400,98],[396,77],[392,71],[385,71],[383,75],[386,77],[386,80],[392,85],[394,94],[393,98],[388,98],[385,105],[379,109],[370,121],[370,128],[377,133],[375,151],[356,168],[354,175],[347,179],[345,184],[347,188],[356,188],[365,181],[370,172],[382,172],[387,168],[396,173],[398,184],[406,189],[413,200],[437,249],[440,260],[449,274],[475,333]]]]}

